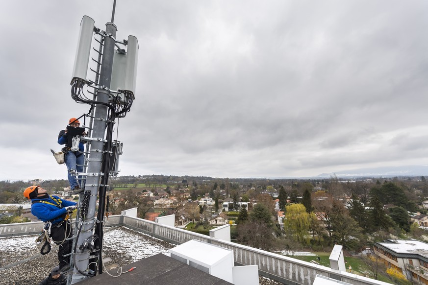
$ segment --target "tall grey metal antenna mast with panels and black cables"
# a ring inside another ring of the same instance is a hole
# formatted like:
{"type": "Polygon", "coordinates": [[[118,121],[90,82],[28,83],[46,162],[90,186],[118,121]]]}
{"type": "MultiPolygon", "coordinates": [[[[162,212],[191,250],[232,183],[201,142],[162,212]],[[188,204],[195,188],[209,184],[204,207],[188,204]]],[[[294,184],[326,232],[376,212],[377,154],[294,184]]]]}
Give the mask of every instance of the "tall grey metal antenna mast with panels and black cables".
{"type": "MultiPolygon", "coordinates": [[[[134,36],[128,36],[128,41],[116,41],[117,27],[113,24],[115,9],[116,0],[113,2],[111,22],[105,24],[105,32],[94,26],[94,20],[88,16],[83,17],[71,82],[73,99],[78,103],[95,106],[95,112],[93,113],[93,118],[91,118],[93,120],[91,138],[81,138],[83,141],[89,142],[90,150],[86,154],[86,173],[77,173],[77,175],[86,177],[86,179],[83,179],[85,180],[85,191],[80,194],[79,215],[76,218],[75,232],[77,235],[74,237],[76,239],[73,243],[72,252],[72,260],[74,261],[72,284],[95,276],[97,272],[98,274],[102,273],[102,226],[105,212],[105,193],[108,188],[111,171],[113,125],[116,118],[126,116],[134,100],[138,41],[134,36]],[[94,71],[97,74],[96,78],[99,78],[96,81],[99,82],[86,80],[94,31],[102,37],[99,42],[100,51],[97,51],[100,53],[99,60],[94,60],[98,63],[98,66],[101,65],[100,72],[98,72],[98,68],[97,71],[94,71]],[[125,49],[118,48],[120,52],[115,53],[115,47],[118,44],[126,45],[127,52],[125,53],[125,49]],[[114,66],[115,61],[122,61],[122,64],[114,66]],[[123,63],[124,61],[126,62],[123,63]],[[112,86],[113,71],[115,71],[114,86],[112,86]],[[93,93],[95,99],[89,100],[83,94],[82,89],[85,84],[97,85],[97,87],[90,86],[95,89],[93,93]],[[111,90],[112,88],[114,90],[111,90]],[[96,216],[97,196],[100,199],[96,216]]],[[[118,147],[118,142],[115,141],[115,143],[115,146],[118,147]]]]}

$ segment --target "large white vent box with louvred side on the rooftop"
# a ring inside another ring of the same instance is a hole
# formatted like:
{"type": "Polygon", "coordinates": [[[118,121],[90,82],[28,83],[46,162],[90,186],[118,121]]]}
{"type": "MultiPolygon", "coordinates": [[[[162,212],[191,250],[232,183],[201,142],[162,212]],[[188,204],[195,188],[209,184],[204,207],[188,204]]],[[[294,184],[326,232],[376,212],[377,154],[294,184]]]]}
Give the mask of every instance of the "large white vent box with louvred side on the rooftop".
{"type": "Polygon", "coordinates": [[[196,239],[170,249],[170,257],[233,283],[233,251],[196,239]]]}

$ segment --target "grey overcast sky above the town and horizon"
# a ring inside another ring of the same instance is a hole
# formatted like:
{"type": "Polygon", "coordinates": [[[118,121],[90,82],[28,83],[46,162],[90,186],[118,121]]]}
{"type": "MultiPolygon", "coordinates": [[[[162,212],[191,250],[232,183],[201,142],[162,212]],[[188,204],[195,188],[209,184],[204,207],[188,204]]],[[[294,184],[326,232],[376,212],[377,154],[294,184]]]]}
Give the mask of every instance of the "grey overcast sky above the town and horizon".
{"type": "MultiPolygon", "coordinates": [[[[50,149],[89,110],[70,95],[80,21],[104,30],[112,6],[2,2],[0,180],[67,179],[50,149]]],[[[117,38],[140,47],[120,175],[427,165],[427,15],[426,0],[117,0],[117,38]]]]}

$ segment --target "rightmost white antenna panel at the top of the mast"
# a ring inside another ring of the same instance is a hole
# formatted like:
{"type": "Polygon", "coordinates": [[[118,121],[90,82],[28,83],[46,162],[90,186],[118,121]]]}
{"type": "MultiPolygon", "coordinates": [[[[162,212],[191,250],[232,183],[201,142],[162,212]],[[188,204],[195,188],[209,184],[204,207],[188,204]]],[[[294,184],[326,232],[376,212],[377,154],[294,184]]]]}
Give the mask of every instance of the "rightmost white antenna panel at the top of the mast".
{"type": "Polygon", "coordinates": [[[133,95],[135,95],[135,83],[137,80],[138,49],[137,38],[128,36],[124,90],[132,92],[133,95]]]}

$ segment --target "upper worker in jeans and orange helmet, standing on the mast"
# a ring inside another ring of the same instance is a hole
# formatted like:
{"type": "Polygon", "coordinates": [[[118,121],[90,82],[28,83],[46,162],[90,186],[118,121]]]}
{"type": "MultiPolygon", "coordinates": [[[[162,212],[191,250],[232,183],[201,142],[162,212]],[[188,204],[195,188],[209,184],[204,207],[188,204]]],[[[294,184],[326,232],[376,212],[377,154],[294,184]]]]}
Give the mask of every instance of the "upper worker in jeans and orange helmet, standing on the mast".
{"type": "MultiPolygon", "coordinates": [[[[80,122],[76,118],[71,118],[68,120],[68,126],[78,128],[80,126],[80,122]]],[[[81,133],[78,135],[85,136],[86,132],[82,130],[81,133]]],[[[83,143],[79,142],[79,149],[73,151],[71,149],[71,139],[73,139],[73,137],[69,137],[70,135],[68,133],[68,128],[66,128],[65,130],[61,130],[58,134],[58,143],[65,144],[65,147],[62,148],[62,152],[64,152],[64,162],[67,166],[67,177],[70,183],[70,189],[72,190],[73,194],[78,194],[83,191],[83,186],[79,186],[76,179],[76,172],[82,172],[83,164],[85,163],[85,156],[83,154],[83,143]]]]}

